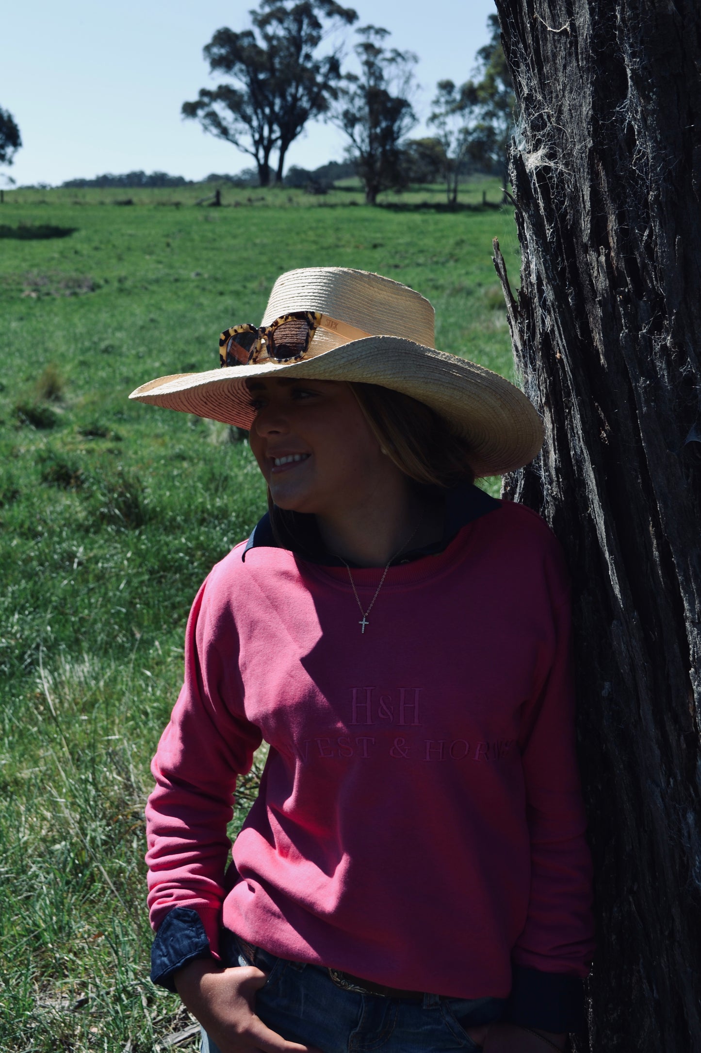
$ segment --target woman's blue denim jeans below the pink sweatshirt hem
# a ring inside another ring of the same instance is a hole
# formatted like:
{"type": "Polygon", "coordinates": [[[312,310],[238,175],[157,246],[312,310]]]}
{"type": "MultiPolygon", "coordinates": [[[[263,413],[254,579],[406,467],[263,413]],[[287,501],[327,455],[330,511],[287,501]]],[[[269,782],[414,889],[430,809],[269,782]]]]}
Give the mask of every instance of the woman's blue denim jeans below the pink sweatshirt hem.
{"type": "MultiPolygon", "coordinates": [[[[359,994],[337,987],[319,966],[287,961],[261,949],[251,960],[238,940],[226,940],[223,951],[227,966],[254,965],[268,974],[255,996],[263,1022],[288,1041],[323,1053],[474,1053],[480,1047],[465,1029],[499,1019],[506,1005],[502,998],[425,994],[414,1001],[359,994]]],[[[221,1053],[205,1031],[202,1053],[221,1053]]]]}

